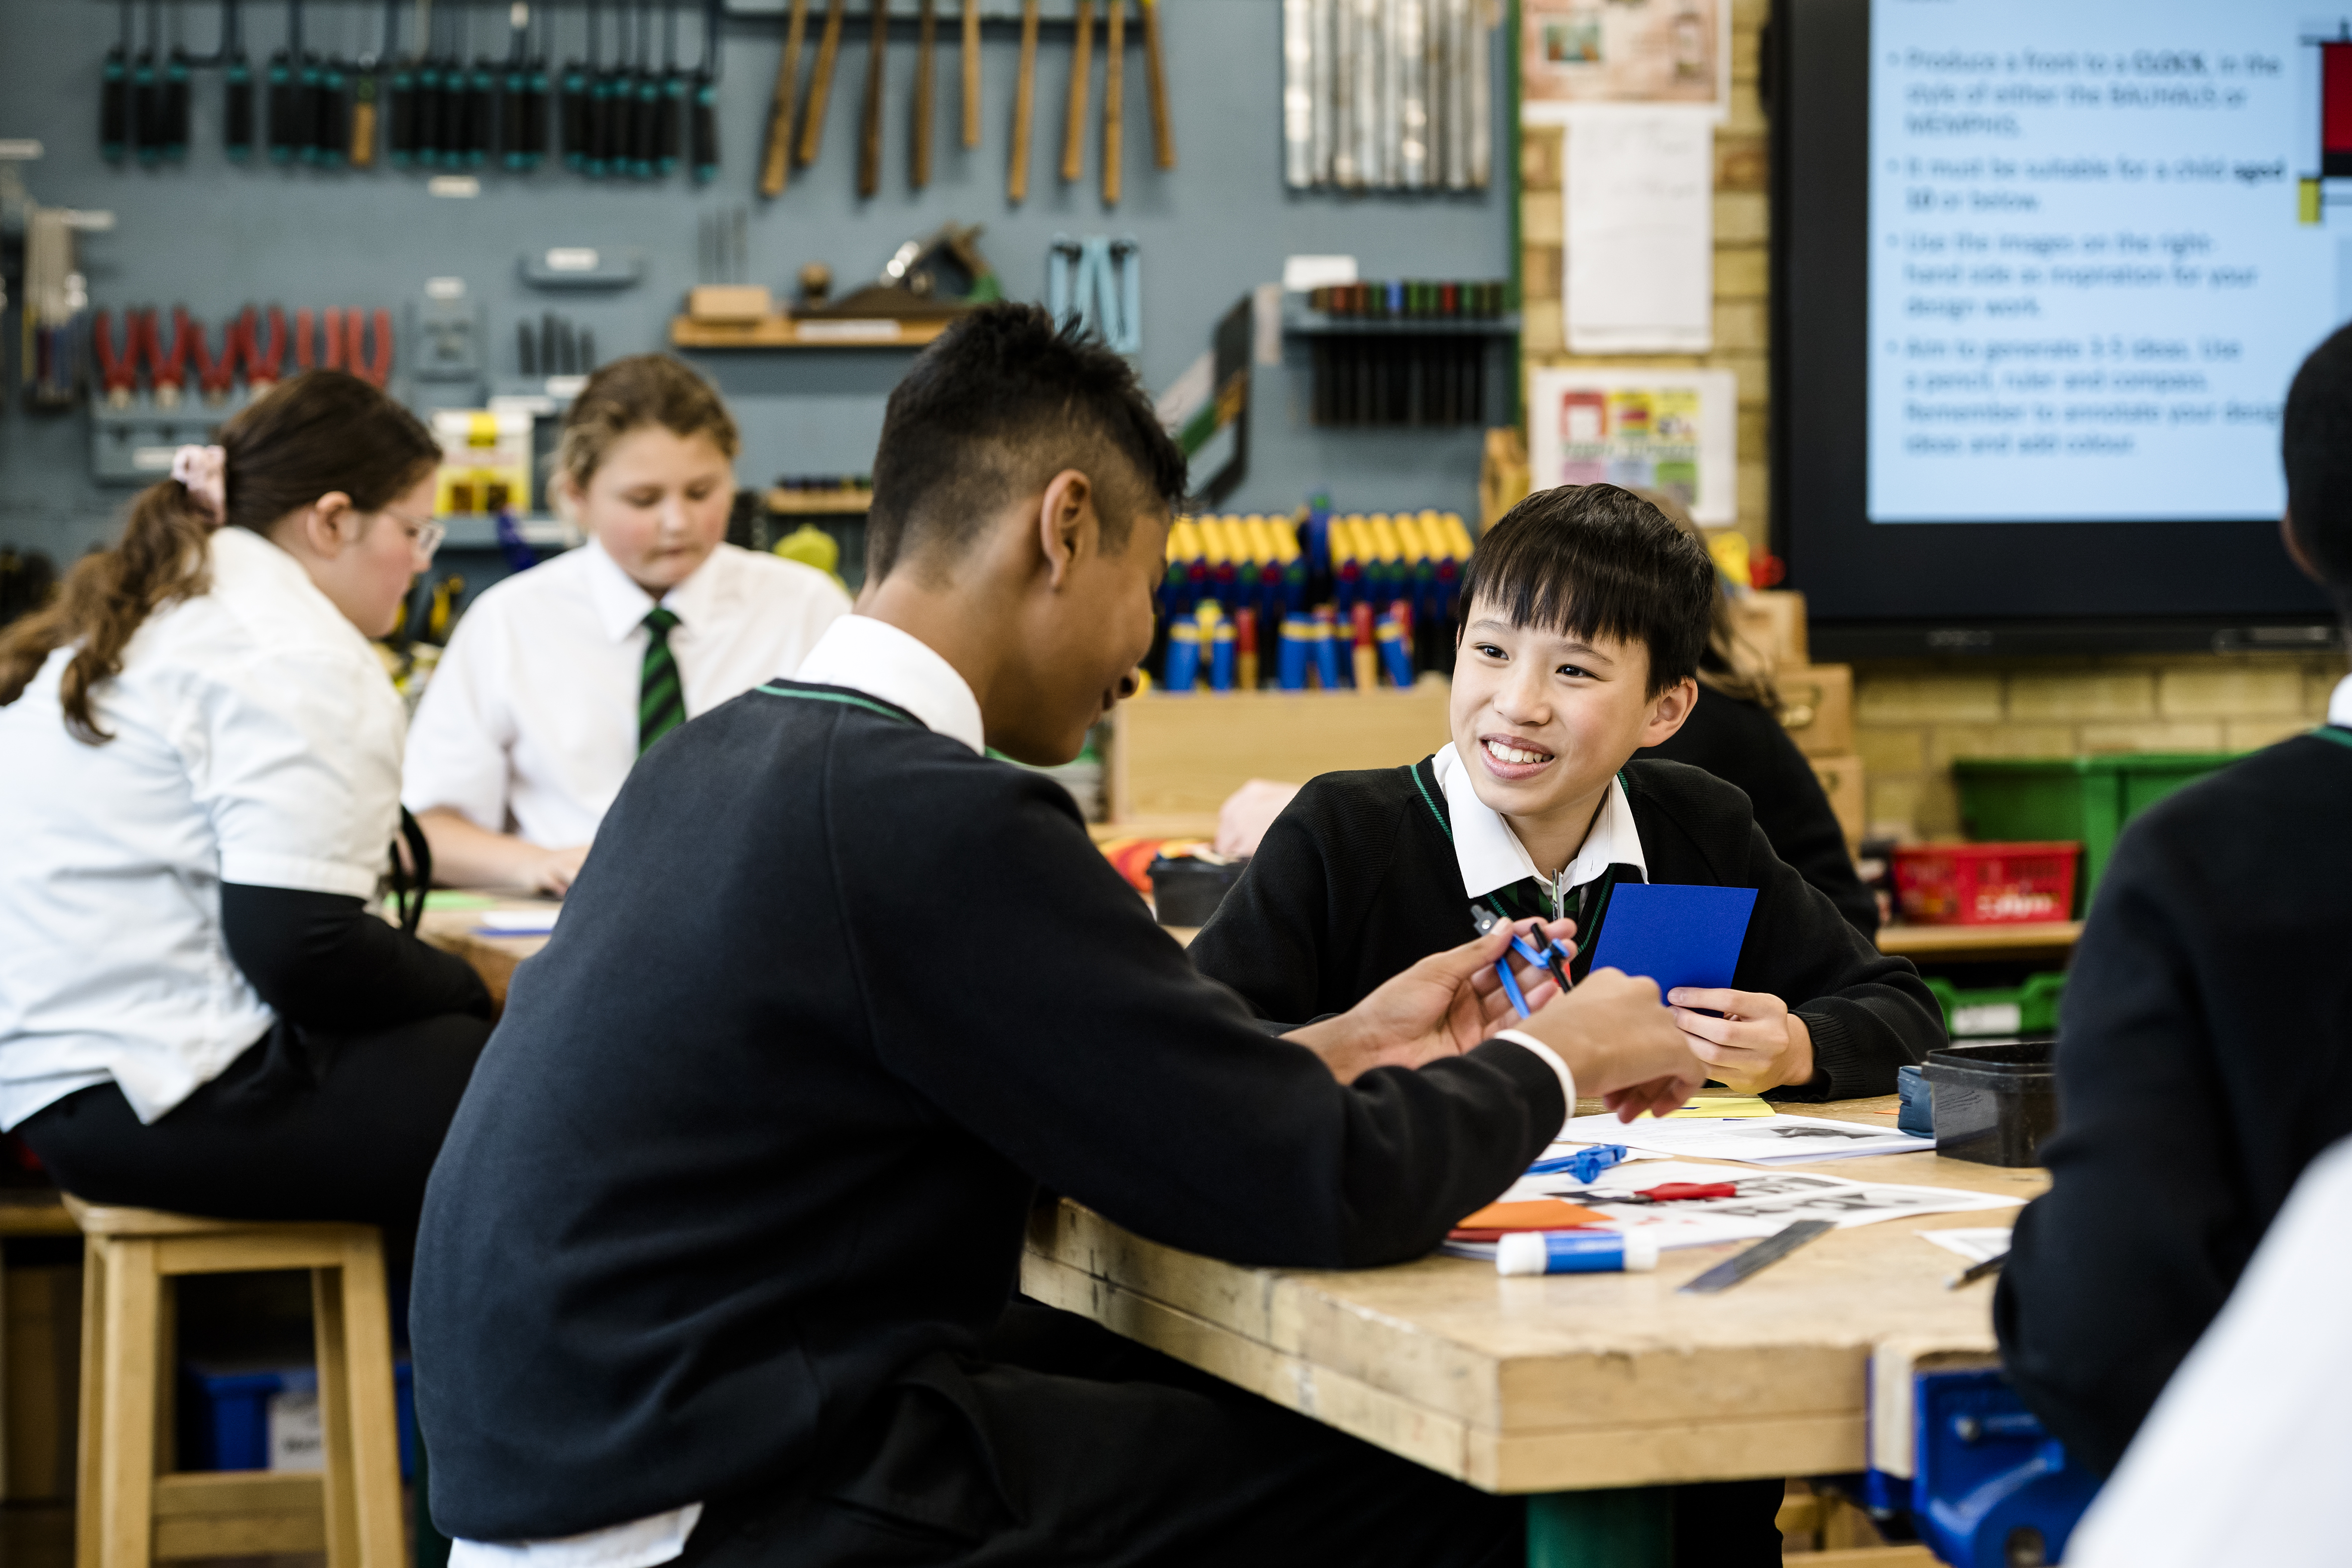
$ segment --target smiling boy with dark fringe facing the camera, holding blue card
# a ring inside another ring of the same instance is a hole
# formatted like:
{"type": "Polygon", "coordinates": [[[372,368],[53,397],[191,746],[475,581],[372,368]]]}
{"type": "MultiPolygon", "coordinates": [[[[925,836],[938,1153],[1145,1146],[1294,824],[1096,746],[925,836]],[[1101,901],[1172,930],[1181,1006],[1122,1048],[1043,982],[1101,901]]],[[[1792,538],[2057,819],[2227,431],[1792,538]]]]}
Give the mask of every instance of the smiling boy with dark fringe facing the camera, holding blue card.
{"type": "MultiPolygon", "coordinates": [[[[1632,762],[1698,701],[1705,548],[1613,484],[1538,491],[1479,541],[1461,602],[1454,743],[1308,783],[1192,964],[1261,1018],[1317,1018],[1461,943],[1472,900],[1573,933],[1569,976],[1585,980],[1621,882],[1752,886],[1733,985],[1668,994],[1705,1072],[1783,1100],[1893,1093],[1896,1067],[1945,1039],[1912,964],[1773,856],[1740,790],[1632,762]]],[[[1675,1561],[1778,1563],[1780,1493],[1778,1479],[1679,1488],[1675,1561]]]]}

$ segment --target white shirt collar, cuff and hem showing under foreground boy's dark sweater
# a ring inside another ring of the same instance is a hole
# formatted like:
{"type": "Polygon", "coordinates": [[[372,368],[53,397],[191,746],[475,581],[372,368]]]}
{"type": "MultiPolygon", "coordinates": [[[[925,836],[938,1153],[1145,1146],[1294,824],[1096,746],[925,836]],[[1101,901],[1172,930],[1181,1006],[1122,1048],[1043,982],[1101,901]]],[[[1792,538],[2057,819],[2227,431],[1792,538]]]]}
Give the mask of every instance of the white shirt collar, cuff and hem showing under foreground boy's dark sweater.
{"type": "MultiPolygon", "coordinates": [[[[976,752],[988,745],[981,701],[971,696],[971,684],[927,642],[887,621],[842,616],[809,649],[793,679],[877,696],[906,708],[924,729],[962,741],[976,752]]],[[[1559,1074],[1569,1112],[1576,1112],[1576,1079],[1550,1046],[1517,1030],[1503,1030],[1498,1039],[1526,1046],[1550,1063],[1559,1074]]],[[[689,1502],[682,1509],[557,1540],[459,1540],[449,1544],[449,1568],[656,1568],[684,1554],[701,1516],[703,1505],[689,1502]]]]}

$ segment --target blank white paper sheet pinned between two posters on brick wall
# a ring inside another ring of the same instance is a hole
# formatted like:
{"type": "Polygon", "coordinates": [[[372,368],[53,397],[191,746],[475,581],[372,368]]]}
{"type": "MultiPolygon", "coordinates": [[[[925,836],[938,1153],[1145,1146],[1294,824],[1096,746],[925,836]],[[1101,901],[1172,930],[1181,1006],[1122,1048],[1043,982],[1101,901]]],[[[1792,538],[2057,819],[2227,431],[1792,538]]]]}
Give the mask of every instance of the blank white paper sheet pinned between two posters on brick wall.
{"type": "Polygon", "coordinates": [[[1715,346],[1715,127],[1689,110],[1611,113],[1566,132],[1562,244],[1569,353],[1715,346]]]}

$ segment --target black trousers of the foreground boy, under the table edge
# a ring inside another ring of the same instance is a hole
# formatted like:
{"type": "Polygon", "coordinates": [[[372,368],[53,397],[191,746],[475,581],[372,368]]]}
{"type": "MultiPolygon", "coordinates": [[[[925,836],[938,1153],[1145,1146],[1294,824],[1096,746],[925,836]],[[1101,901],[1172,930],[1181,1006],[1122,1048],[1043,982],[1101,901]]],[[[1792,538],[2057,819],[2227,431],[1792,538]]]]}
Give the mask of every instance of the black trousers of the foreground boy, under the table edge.
{"type": "MultiPolygon", "coordinates": [[[[1755,1490],[1755,1483],[1740,1483],[1755,1490]]],[[[1778,1507],[1780,1483],[1771,1488],[1778,1507]]],[[[1684,1488],[1705,1493],[1736,1488],[1684,1488]]],[[[1677,1509],[1677,1514],[1684,1509],[1677,1509]]],[[[1696,1523],[1696,1521],[1693,1521],[1696,1523]]],[[[1733,1530],[1733,1537],[1740,1533],[1733,1530]]],[[[1755,1530],[1745,1533],[1757,1542],[1755,1530]]],[[[1693,1568],[1778,1563],[1717,1554],[1693,1568]]],[[[715,1500],[677,1568],[1517,1568],[1526,1505],[1014,1302],[894,1385],[811,1481],[715,1500]]]]}

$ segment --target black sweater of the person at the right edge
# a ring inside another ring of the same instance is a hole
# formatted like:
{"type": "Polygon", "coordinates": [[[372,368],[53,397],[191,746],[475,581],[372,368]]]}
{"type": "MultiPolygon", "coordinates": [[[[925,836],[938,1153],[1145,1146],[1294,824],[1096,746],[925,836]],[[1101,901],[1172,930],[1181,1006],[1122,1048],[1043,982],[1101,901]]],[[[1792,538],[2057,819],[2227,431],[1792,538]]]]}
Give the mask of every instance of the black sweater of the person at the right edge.
{"type": "Polygon", "coordinates": [[[2298,736],[2150,806],[2100,877],[2058,1020],[2053,1185],[1994,1295],[2011,1380],[2100,1472],[2352,1133],[2347,802],[2352,733],[2298,736]]]}

